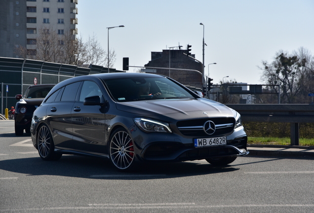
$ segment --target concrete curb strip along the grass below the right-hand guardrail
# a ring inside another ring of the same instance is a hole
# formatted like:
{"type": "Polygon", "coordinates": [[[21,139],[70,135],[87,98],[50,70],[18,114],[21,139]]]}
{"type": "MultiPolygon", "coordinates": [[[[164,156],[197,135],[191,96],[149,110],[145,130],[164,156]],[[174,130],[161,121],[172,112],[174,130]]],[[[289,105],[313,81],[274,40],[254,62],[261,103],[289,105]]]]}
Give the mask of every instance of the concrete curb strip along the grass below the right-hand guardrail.
{"type": "Polygon", "coordinates": [[[248,144],[248,156],[313,158],[314,146],[248,144]]]}

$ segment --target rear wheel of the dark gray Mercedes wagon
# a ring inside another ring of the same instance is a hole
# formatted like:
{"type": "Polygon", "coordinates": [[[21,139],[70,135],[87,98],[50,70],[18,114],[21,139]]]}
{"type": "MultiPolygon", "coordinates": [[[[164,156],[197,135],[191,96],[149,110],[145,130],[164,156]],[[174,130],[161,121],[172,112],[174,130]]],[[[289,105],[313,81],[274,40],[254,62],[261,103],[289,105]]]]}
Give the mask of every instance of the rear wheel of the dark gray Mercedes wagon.
{"type": "Polygon", "coordinates": [[[49,128],[43,124],[37,134],[38,153],[42,160],[59,160],[62,156],[54,151],[54,143],[49,128]]]}

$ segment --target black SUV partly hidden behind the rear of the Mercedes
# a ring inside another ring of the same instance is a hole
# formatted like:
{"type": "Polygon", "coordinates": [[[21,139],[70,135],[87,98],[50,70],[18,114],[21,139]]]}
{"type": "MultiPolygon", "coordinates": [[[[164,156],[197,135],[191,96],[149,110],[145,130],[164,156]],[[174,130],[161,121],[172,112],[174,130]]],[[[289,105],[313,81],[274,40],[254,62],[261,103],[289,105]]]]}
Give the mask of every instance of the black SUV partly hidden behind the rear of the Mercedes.
{"type": "Polygon", "coordinates": [[[15,135],[21,136],[25,130],[30,133],[32,116],[35,109],[41,104],[43,99],[54,87],[55,84],[38,84],[29,86],[24,96],[16,95],[19,100],[15,106],[15,135]]]}

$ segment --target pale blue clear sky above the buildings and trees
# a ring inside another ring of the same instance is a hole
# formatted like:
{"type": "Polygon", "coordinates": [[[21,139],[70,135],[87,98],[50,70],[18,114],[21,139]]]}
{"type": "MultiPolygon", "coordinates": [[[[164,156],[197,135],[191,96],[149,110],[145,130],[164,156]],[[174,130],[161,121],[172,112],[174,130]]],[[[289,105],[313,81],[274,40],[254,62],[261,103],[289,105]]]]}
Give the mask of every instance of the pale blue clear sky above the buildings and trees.
{"type": "Polygon", "coordinates": [[[263,84],[258,66],[276,52],[304,47],[314,54],[314,0],[79,0],[77,7],[78,36],[95,35],[105,51],[107,28],[125,26],[109,30],[117,70],[123,57],[144,67],[151,52],[188,44],[202,62],[203,35],[204,72],[214,84],[263,84]]]}

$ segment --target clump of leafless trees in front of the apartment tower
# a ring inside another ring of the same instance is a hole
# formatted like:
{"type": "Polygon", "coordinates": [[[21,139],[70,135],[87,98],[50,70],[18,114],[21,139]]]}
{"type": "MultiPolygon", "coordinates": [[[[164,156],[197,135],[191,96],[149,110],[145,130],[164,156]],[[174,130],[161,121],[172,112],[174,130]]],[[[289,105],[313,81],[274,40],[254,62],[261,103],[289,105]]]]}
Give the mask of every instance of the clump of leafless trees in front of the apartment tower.
{"type": "MultiPolygon", "coordinates": [[[[75,38],[71,30],[58,34],[53,28],[43,27],[38,32],[36,50],[27,50],[26,47],[19,46],[15,52],[27,59],[79,67],[88,67],[89,64],[108,66],[108,55],[95,35],[89,36],[87,41],[83,42],[82,36],[75,38]]],[[[116,53],[113,50],[109,54],[109,67],[113,67],[116,53]]]]}

